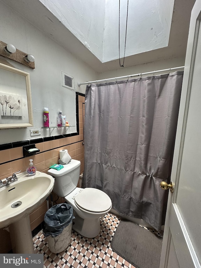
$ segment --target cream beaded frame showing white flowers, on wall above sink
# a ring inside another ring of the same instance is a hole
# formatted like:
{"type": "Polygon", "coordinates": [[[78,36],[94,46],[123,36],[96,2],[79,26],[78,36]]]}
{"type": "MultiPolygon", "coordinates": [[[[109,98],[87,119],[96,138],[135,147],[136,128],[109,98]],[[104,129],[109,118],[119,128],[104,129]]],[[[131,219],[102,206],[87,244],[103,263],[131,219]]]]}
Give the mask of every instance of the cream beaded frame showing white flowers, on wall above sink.
{"type": "Polygon", "coordinates": [[[31,126],[30,74],[0,63],[0,129],[31,126]]]}

